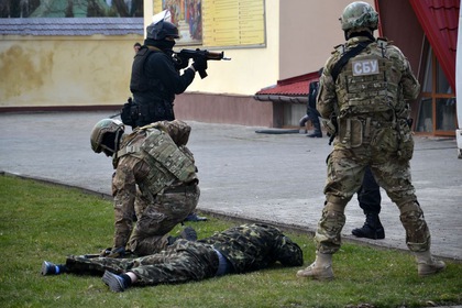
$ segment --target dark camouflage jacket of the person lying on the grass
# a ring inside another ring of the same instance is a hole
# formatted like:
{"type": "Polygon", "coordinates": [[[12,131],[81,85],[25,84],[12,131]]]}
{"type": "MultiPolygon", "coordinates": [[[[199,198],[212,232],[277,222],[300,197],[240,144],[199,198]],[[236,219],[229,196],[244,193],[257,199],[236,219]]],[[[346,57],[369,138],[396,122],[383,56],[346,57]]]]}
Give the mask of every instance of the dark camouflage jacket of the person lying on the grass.
{"type": "Polygon", "coordinates": [[[277,261],[286,266],[304,264],[301,249],[277,228],[266,224],[234,227],[198,242],[223,254],[233,266],[232,273],[265,268],[277,261]]]}

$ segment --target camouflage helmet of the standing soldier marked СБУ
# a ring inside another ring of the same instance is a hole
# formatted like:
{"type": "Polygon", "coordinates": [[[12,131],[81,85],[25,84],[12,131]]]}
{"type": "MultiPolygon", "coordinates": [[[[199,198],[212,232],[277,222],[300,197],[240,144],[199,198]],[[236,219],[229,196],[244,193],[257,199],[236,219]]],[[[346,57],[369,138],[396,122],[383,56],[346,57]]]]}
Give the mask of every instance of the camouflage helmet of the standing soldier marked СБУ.
{"type": "Polygon", "coordinates": [[[356,1],[343,10],[340,23],[345,32],[354,29],[374,31],[378,28],[378,13],[367,2],[356,1]]]}

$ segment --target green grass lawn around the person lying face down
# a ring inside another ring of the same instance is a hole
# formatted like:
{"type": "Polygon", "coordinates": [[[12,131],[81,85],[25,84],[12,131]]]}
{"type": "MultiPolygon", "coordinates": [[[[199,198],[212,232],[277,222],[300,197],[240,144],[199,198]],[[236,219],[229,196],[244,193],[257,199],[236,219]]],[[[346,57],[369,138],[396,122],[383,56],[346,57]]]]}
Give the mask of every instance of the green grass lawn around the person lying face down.
{"type": "MultiPolygon", "coordinates": [[[[189,222],[199,238],[237,224],[209,217],[189,222]]],[[[173,232],[179,232],[176,228],[173,232]]],[[[111,201],[30,179],[0,176],[1,307],[429,307],[462,305],[462,264],[417,276],[414,257],[400,251],[345,243],[333,256],[336,279],[320,283],[295,276],[299,268],[275,266],[182,285],[111,293],[100,277],[43,277],[44,260],[97,253],[112,243],[111,201]],[[367,306],[367,305],[370,306],[367,306]]],[[[289,235],[304,249],[305,266],[315,256],[312,239],[289,235]]]]}

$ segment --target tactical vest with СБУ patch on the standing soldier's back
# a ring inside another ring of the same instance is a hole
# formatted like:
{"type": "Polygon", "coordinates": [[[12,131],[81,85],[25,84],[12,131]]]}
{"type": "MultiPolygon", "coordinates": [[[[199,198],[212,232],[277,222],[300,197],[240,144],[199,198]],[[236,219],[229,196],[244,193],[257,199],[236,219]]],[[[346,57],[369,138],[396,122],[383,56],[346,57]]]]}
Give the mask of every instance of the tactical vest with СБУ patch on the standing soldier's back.
{"type": "Polygon", "coordinates": [[[400,72],[393,68],[386,48],[387,41],[378,38],[351,58],[339,74],[340,114],[376,113],[396,108],[400,72]]]}

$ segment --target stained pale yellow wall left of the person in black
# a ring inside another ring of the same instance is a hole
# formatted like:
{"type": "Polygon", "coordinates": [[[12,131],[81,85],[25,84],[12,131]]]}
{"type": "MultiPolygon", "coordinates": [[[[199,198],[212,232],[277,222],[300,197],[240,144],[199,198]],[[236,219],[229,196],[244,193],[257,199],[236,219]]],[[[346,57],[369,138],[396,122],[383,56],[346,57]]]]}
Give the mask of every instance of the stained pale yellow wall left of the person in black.
{"type": "Polygon", "coordinates": [[[142,40],[0,36],[0,108],[122,105],[142,40]]]}

